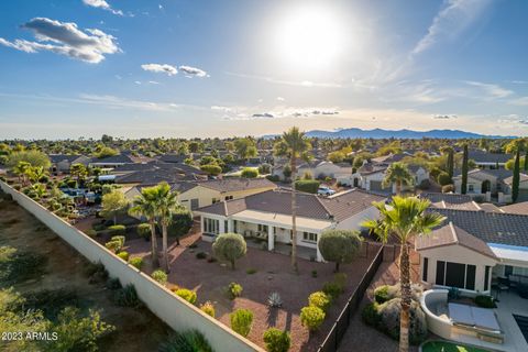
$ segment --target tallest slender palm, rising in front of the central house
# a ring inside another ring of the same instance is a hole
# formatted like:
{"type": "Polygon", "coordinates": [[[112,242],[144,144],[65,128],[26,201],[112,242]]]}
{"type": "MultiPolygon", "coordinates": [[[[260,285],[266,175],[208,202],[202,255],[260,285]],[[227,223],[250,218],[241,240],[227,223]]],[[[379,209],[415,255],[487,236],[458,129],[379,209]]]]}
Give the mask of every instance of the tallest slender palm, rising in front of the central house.
{"type": "Polygon", "coordinates": [[[297,197],[295,189],[295,182],[297,176],[297,160],[309,161],[309,151],[311,150],[310,142],[300,132],[298,128],[294,127],[287,132],[284,132],[280,140],[274,145],[274,153],[277,156],[285,156],[289,158],[289,168],[292,169],[292,268],[297,273],[297,197]]]}

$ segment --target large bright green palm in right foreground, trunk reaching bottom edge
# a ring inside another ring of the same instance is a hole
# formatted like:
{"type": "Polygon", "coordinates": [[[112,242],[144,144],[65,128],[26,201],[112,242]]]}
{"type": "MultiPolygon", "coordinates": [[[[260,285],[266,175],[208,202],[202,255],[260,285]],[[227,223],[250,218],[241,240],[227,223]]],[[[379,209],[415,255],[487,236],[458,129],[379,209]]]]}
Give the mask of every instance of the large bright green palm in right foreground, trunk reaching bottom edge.
{"type": "Polygon", "coordinates": [[[362,223],[363,227],[376,233],[383,242],[387,242],[389,237],[394,237],[402,245],[399,254],[402,288],[400,352],[407,352],[409,349],[409,309],[411,304],[409,248],[413,245],[411,241],[417,235],[430,233],[433,228],[446,220],[439,213],[426,212],[429,205],[430,202],[426,199],[395,196],[388,206],[383,201],[374,204],[381,213],[380,220],[372,219],[362,223]]]}

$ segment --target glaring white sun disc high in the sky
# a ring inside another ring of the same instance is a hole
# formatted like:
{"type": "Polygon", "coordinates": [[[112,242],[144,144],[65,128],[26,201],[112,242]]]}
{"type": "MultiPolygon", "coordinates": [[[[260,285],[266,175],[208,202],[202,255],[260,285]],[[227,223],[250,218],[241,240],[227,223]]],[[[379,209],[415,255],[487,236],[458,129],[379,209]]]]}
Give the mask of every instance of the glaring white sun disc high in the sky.
{"type": "Polygon", "coordinates": [[[301,69],[331,65],[342,50],[339,16],[327,8],[302,7],[277,26],[278,55],[301,69]]]}

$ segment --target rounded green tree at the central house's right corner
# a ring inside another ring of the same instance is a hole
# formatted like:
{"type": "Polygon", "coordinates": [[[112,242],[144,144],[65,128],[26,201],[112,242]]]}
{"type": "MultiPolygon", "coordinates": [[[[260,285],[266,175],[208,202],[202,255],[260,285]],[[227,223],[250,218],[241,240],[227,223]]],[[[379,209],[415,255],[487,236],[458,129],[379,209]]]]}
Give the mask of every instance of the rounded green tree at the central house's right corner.
{"type": "Polygon", "coordinates": [[[361,249],[361,242],[355,231],[327,230],[322,232],[317,245],[322,257],[336,263],[336,272],[339,272],[341,263],[351,263],[355,258],[361,249]]]}

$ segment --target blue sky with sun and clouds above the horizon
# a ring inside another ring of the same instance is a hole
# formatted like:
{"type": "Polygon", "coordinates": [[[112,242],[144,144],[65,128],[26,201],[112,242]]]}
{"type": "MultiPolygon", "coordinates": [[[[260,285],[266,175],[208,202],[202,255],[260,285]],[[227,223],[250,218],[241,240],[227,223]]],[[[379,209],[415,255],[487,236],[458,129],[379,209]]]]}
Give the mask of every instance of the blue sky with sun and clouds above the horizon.
{"type": "Polygon", "coordinates": [[[528,134],[525,0],[0,2],[0,139],[528,134]]]}

